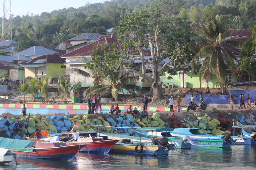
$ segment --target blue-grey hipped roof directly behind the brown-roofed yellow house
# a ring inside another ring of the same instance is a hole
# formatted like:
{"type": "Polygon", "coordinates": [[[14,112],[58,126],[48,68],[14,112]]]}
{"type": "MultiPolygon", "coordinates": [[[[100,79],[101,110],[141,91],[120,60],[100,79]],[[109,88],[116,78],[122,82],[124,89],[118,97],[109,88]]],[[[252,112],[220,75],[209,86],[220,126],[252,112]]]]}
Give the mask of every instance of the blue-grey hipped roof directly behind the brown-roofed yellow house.
{"type": "Polygon", "coordinates": [[[38,55],[38,56],[42,56],[42,55],[46,55],[46,54],[55,54],[55,53],[57,53],[57,52],[53,51],[53,50],[50,50],[50,49],[46,49],[42,46],[34,46],[34,47],[30,47],[29,49],[20,51],[19,53],[16,53],[14,55],[25,55],[25,56],[38,55]]]}

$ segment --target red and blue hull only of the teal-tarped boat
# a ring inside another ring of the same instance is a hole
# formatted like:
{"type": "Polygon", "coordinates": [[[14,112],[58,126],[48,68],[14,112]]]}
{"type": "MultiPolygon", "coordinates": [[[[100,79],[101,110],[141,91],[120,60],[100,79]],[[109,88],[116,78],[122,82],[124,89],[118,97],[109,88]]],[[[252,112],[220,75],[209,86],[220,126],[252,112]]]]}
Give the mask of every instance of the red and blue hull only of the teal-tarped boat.
{"type": "Polygon", "coordinates": [[[71,145],[55,148],[34,148],[33,152],[20,150],[12,151],[17,154],[17,157],[72,160],[82,147],[86,147],[86,145],[71,145]]]}

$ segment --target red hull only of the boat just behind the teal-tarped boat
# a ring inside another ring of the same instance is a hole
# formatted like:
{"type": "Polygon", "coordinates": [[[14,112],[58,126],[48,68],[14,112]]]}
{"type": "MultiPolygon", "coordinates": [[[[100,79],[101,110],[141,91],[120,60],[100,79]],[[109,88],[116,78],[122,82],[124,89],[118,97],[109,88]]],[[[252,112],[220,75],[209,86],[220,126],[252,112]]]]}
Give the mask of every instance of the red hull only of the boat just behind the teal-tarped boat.
{"type": "MultiPolygon", "coordinates": [[[[26,140],[36,141],[36,142],[45,142],[42,139],[34,139],[25,137],[26,140]]],[[[65,142],[67,146],[70,145],[80,145],[80,144],[87,144],[85,147],[80,149],[81,152],[88,152],[89,153],[97,153],[97,154],[108,154],[111,147],[117,143],[119,140],[107,140],[107,141],[96,141],[96,142],[65,142]]],[[[64,142],[54,142],[54,143],[64,143],[64,142]]]]}

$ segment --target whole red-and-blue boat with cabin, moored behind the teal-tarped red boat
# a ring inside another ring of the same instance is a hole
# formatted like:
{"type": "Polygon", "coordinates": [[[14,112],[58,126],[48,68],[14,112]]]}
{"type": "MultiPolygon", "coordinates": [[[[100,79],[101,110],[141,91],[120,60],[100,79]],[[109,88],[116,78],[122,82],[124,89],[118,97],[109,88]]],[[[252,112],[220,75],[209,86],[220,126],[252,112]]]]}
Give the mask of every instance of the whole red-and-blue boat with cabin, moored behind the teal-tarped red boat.
{"type": "MultiPolygon", "coordinates": [[[[34,139],[25,137],[25,140],[36,141],[36,142],[45,142],[43,139],[34,139]]],[[[54,143],[65,143],[67,146],[70,145],[80,145],[87,144],[85,147],[82,147],[80,151],[90,152],[90,153],[100,153],[108,154],[109,150],[115,145],[119,140],[104,140],[102,137],[79,137],[75,142],[54,142],[54,143]]]]}

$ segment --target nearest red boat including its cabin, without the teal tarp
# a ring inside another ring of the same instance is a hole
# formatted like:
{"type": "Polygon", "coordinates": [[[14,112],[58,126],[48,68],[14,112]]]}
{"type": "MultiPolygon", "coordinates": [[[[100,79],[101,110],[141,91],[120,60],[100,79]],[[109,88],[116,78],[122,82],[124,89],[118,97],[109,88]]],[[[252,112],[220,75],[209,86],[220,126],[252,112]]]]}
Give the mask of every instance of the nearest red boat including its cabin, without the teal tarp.
{"type": "Polygon", "coordinates": [[[76,153],[86,147],[86,144],[69,145],[65,143],[37,142],[34,149],[10,149],[14,151],[18,157],[26,158],[50,158],[72,160],[76,153]],[[32,151],[32,152],[31,152],[32,151]]]}

